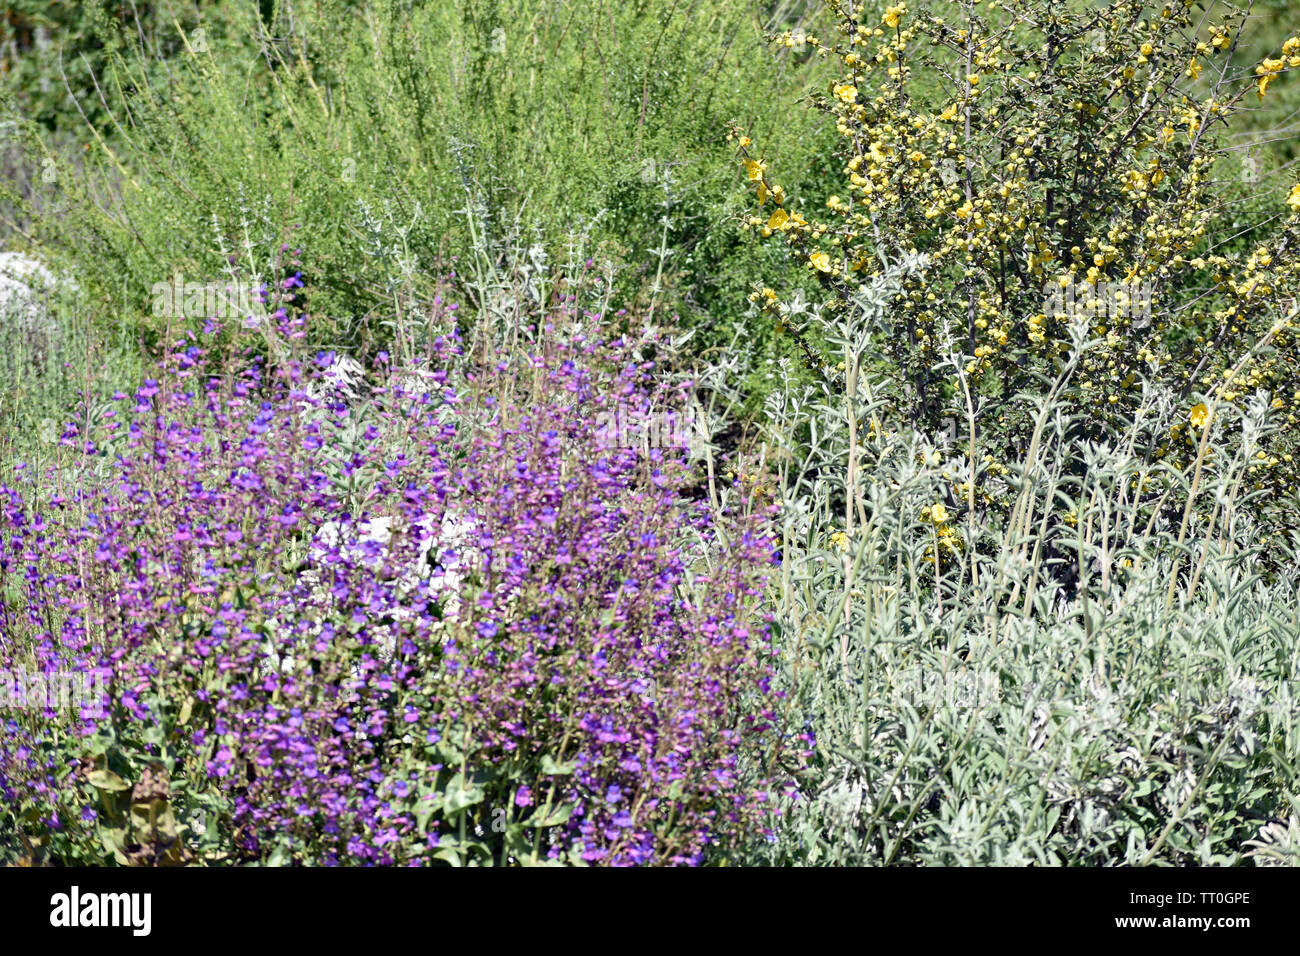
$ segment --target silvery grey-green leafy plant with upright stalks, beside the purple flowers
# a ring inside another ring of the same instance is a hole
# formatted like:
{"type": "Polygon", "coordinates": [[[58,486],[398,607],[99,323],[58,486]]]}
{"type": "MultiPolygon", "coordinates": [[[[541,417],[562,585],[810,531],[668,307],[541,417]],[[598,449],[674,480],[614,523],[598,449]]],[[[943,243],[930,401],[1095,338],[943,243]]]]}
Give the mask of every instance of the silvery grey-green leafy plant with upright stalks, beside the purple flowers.
{"type": "Polygon", "coordinates": [[[1002,473],[970,421],[892,414],[885,291],[833,332],[844,372],[768,402],[776,619],[815,745],[763,858],[1295,862],[1300,593],[1264,575],[1243,490],[1266,402],[1217,407],[1200,476],[1144,454],[1187,420],[1169,394],[1088,441],[1054,398],[1079,329],[1002,473]]]}

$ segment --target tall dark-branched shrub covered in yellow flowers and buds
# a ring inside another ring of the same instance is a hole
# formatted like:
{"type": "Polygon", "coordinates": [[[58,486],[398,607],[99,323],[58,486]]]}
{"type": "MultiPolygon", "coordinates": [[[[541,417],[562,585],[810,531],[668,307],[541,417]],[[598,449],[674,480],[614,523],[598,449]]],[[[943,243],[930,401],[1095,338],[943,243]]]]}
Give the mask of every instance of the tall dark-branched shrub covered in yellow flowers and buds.
{"type": "MultiPolygon", "coordinates": [[[[1218,421],[1216,403],[1256,394],[1291,427],[1271,441],[1294,442],[1300,183],[1245,217],[1223,147],[1235,114],[1300,68],[1300,38],[1243,74],[1230,59],[1248,10],[1226,3],[826,5],[835,30],[805,42],[841,68],[818,105],[842,137],[842,186],[786,195],[762,146],[742,147],[746,228],[807,265],[828,321],[890,261],[926,258],[874,342],[900,418],[939,432],[971,414],[991,460],[1009,460],[1034,431],[1017,397],[1043,394],[1088,341],[1057,398],[1101,434],[1156,385],[1183,427],[1152,440],[1153,462],[1195,459],[1193,405],[1218,421]]],[[[751,299],[789,324],[779,291],[751,299]]],[[[1265,459],[1279,466],[1254,480],[1283,481],[1287,459],[1265,459]]]]}

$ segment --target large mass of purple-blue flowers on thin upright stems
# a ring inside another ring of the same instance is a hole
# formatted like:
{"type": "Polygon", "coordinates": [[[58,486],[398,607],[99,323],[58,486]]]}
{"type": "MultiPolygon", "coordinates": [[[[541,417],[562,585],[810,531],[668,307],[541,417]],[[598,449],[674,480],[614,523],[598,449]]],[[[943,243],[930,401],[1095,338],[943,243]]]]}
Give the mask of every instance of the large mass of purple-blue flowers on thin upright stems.
{"type": "Polygon", "coordinates": [[[699,864],[767,829],[766,515],[602,440],[662,399],[636,343],[537,341],[474,367],[441,338],[359,407],[333,356],[194,337],[65,431],[70,468],[0,488],[0,666],[113,675],[107,715],[4,715],[25,826],[95,826],[78,741],[108,727],[218,793],[247,858],[699,864]]]}

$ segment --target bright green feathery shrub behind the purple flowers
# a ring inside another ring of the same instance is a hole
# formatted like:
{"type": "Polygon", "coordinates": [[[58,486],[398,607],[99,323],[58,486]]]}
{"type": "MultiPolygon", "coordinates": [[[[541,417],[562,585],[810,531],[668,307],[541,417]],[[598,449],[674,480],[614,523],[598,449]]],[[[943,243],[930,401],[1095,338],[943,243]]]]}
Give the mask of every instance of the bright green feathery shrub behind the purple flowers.
{"type": "MultiPolygon", "coordinates": [[[[246,5],[220,13],[220,29],[182,25],[174,55],[130,36],[105,51],[95,78],[108,118],[90,117],[86,172],[48,187],[32,233],[101,316],[155,336],[155,282],[222,276],[230,256],[261,276],[274,250],[300,242],[330,343],[370,347],[395,300],[432,298],[439,263],[476,241],[497,255],[512,230],[555,255],[585,233],[636,264],[616,304],[708,329],[736,313],[753,268],[753,243],[729,228],[744,198],[727,125],[762,131],[796,177],[826,173],[820,124],[794,108],[815,75],[763,52],[755,5],[334,0],[268,22],[246,5]]],[[[51,137],[26,129],[39,164],[51,137]]],[[[790,271],[784,256],[760,263],[790,271]]]]}

